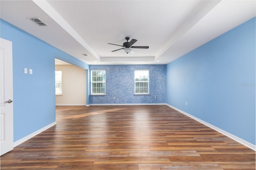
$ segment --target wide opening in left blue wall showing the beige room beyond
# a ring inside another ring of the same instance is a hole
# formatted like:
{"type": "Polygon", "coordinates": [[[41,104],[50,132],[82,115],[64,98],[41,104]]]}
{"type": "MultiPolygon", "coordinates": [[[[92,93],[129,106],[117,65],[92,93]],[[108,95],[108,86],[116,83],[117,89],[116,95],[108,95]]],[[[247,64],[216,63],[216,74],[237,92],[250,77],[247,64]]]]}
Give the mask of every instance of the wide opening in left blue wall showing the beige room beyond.
{"type": "Polygon", "coordinates": [[[56,106],[86,106],[87,70],[55,58],[56,106]]]}

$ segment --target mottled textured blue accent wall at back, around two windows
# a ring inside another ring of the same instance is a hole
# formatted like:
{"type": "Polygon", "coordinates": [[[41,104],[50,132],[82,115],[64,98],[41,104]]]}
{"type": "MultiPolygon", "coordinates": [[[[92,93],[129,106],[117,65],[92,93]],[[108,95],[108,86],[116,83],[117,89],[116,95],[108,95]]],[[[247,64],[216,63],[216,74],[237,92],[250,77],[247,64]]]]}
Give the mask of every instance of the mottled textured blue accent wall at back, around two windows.
{"type": "Polygon", "coordinates": [[[90,104],[166,103],[166,65],[90,65],[90,70],[106,70],[106,95],[91,95],[90,104]],[[150,95],[134,95],[134,70],[149,70],[150,95]]]}

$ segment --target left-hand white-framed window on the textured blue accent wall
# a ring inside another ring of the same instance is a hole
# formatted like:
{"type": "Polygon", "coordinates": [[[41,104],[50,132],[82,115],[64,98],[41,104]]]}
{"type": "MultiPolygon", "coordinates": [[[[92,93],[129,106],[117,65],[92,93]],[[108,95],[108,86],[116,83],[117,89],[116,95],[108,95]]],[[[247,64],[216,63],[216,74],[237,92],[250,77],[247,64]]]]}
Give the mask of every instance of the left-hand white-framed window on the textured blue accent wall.
{"type": "Polygon", "coordinates": [[[91,71],[91,94],[106,94],[106,70],[91,71]]]}

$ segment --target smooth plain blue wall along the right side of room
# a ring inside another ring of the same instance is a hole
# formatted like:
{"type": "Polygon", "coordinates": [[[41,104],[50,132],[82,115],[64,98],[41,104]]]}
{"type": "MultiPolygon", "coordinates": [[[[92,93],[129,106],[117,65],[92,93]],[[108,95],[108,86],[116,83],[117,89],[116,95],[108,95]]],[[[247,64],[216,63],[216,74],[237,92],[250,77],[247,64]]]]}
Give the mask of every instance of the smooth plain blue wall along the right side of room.
{"type": "Polygon", "coordinates": [[[255,145],[255,31],[252,18],[169,63],[166,103],[255,145]]]}

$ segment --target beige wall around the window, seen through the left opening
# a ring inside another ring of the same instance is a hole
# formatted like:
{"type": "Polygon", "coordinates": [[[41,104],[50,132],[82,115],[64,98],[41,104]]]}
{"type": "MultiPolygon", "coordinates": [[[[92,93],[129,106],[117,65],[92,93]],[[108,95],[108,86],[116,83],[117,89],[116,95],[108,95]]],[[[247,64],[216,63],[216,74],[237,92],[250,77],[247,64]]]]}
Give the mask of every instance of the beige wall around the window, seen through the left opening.
{"type": "Polygon", "coordinates": [[[55,65],[62,71],[62,95],[56,96],[56,106],[86,105],[86,70],[74,65],[55,65]]]}

